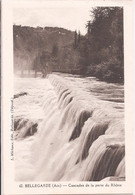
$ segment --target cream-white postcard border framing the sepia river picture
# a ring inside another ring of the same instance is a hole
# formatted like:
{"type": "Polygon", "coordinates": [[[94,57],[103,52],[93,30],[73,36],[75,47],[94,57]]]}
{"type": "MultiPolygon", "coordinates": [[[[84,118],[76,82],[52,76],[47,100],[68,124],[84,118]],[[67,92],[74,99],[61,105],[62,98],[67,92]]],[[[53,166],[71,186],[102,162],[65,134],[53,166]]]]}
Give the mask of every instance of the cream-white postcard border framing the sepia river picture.
{"type": "MultiPolygon", "coordinates": [[[[58,6],[71,2],[61,0],[58,6]],[[61,4],[62,3],[62,4],[61,4]]],[[[77,0],[74,0],[75,2],[77,0]]],[[[84,1],[84,0],[83,0],[84,1]]],[[[86,0],[87,1],[87,0],[86,0]]],[[[49,5],[50,2],[48,1],[49,5]]],[[[78,1],[81,3],[81,0],[78,1]]],[[[124,7],[124,59],[125,59],[125,129],[126,129],[126,181],[118,182],[122,187],[109,188],[19,188],[20,182],[14,181],[14,161],[10,160],[10,123],[11,98],[13,96],[13,8],[43,7],[46,0],[3,0],[2,1],[2,187],[3,194],[125,194],[133,193],[133,21],[131,0],[91,0],[92,6],[123,6],[124,7]]],[[[79,5],[79,4],[78,4],[79,5]]],[[[22,183],[51,183],[51,182],[22,182],[22,183]]],[[[53,182],[57,183],[57,182],[53,182]]],[[[58,182],[62,183],[62,182],[58,182]]],[[[66,184],[71,182],[64,182],[66,184]]],[[[72,182],[73,183],[73,182],[72,182]]],[[[96,182],[74,182],[96,183],[96,182]]],[[[104,183],[104,182],[100,182],[104,183]]],[[[109,182],[106,182],[110,184],[109,182]]],[[[112,182],[117,183],[117,182],[112,182]]]]}

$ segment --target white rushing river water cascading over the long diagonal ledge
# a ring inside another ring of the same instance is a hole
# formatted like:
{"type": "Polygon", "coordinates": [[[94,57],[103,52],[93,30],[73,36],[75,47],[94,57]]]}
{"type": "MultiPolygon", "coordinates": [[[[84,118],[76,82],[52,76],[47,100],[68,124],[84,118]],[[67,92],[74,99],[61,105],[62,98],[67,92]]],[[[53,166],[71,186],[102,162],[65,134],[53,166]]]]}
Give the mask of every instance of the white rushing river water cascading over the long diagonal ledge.
{"type": "Polygon", "coordinates": [[[123,85],[16,78],[14,107],[17,181],[125,180],[123,85]]]}

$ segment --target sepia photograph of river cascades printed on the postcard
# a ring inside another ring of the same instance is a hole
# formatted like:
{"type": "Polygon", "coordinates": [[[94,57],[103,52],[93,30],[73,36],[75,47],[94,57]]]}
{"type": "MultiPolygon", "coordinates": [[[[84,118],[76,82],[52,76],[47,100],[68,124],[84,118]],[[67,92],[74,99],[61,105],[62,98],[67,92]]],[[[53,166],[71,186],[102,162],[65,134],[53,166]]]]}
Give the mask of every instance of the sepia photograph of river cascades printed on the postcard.
{"type": "Polygon", "coordinates": [[[12,10],[14,181],[120,188],[129,179],[125,7],[33,2],[12,10]]]}

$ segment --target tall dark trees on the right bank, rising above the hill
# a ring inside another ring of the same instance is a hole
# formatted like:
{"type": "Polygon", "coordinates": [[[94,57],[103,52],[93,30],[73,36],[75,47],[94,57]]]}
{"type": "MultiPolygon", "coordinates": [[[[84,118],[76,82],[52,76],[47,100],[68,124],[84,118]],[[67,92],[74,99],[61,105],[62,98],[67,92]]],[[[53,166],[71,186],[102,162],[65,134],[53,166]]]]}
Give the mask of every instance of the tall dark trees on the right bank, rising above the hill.
{"type": "Polygon", "coordinates": [[[110,82],[124,81],[123,9],[98,7],[87,23],[87,36],[82,47],[86,73],[110,82]]]}

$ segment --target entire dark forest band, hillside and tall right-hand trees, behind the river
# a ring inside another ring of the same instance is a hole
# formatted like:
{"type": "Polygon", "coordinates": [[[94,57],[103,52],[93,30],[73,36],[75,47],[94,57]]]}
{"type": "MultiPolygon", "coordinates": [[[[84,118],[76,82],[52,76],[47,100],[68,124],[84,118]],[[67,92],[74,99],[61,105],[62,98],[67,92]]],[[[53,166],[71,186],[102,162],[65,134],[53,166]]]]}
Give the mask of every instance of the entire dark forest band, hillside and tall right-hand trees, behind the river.
{"type": "Polygon", "coordinates": [[[58,27],[13,26],[15,70],[34,69],[124,82],[123,8],[96,7],[87,33],[58,27]]]}

